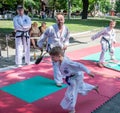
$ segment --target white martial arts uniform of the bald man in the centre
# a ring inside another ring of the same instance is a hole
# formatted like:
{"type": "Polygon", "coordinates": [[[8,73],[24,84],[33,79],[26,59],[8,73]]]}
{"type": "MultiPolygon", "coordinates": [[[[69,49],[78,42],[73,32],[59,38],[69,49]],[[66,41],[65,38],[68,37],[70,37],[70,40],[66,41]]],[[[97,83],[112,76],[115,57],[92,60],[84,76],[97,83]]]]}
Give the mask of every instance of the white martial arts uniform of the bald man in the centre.
{"type": "MultiPolygon", "coordinates": [[[[63,25],[62,33],[59,33],[59,28],[57,24],[54,24],[46,29],[46,31],[41,35],[40,40],[38,41],[38,46],[43,47],[45,41],[47,41],[46,51],[50,51],[51,48],[55,46],[68,46],[69,44],[69,31],[65,25],[63,25]]],[[[54,70],[54,80],[57,84],[63,83],[62,75],[59,71],[58,62],[53,62],[54,70]]]]}

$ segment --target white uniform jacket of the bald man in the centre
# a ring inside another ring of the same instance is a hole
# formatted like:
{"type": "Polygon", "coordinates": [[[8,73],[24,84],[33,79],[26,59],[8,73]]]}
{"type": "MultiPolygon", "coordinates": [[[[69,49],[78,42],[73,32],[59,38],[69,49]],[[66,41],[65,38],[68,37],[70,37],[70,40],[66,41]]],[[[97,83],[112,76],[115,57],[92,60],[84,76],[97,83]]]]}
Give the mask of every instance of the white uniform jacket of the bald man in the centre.
{"type": "Polygon", "coordinates": [[[40,40],[38,41],[38,46],[40,48],[43,47],[43,43],[47,41],[47,47],[46,49],[49,51],[50,48],[53,48],[55,46],[60,46],[61,48],[64,47],[64,45],[69,44],[69,38],[70,34],[68,31],[68,28],[63,25],[63,31],[62,34],[58,32],[58,25],[54,24],[46,29],[46,31],[42,34],[40,37],[40,40]]]}

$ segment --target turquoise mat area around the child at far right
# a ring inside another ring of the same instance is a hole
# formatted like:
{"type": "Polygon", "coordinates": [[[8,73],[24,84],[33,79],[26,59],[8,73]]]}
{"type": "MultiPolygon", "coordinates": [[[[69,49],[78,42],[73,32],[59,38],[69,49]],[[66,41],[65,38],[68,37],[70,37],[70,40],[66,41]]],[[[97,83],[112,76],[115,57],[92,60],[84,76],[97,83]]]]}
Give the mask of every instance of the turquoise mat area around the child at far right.
{"type": "MultiPolygon", "coordinates": [[[[84,57],[83,59],[91,60],[93,62],[98,62],[99,57],[100,57],[100,52],[96,53],[96,54],[89,55],[87,57],[84,57]]],[[[107,67],[107,68],[116,70],[116,71],[120,71],[120,48],[115,48],[115,57],[118,60],[117,63],[110,61],[110,55],[107,52],[105,54],[105,58],[106,58],[105,60],[106,60],[107,64],[105,64],[104,66],[107,67]]]]}

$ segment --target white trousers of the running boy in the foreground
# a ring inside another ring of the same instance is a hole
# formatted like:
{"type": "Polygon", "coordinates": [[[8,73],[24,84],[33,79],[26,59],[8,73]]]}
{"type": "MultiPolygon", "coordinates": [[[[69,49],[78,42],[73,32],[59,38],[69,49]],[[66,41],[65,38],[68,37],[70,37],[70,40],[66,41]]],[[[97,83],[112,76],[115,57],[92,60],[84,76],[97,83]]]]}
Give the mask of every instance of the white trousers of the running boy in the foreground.
{"type": "Polygon", "coordinates": [[[63,109],[75,110],[78,93],[86,95],[95,88],[94,85],[85,83],[83,77],[83,73],[79,73],[79,75],[75,75],[69,79],[70,85],[68,85],[65,96],[60,103],[63,109]]]}

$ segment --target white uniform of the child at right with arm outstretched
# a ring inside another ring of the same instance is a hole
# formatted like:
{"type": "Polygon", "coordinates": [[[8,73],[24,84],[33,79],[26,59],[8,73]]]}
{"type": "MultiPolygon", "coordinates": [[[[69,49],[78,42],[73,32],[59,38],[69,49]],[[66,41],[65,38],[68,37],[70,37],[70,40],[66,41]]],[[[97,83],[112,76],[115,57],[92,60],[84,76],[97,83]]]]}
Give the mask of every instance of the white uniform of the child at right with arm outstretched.
{"type": "Polygon", "coordinates": [[[114,56],[114,47],[113,47],[113,42],[116,42],[116,33],[115,33],[115,30],[112,29],[110,30],[110,27],[107,27],[105,29],[103,29],[102,31],[98,32],[96,35],[92,36],[92,40],[95,40],[97,38],[101,37],[101,46],[102,46],[102,52],[101,52],[101,55],[100,55],[100,59],[99,59],[99,62],[105,62],[105,52],[107,50],[109,50],[109,53],[110,53],[110,57],[111,59],[115,59],[115,56],[114,56]]]}

